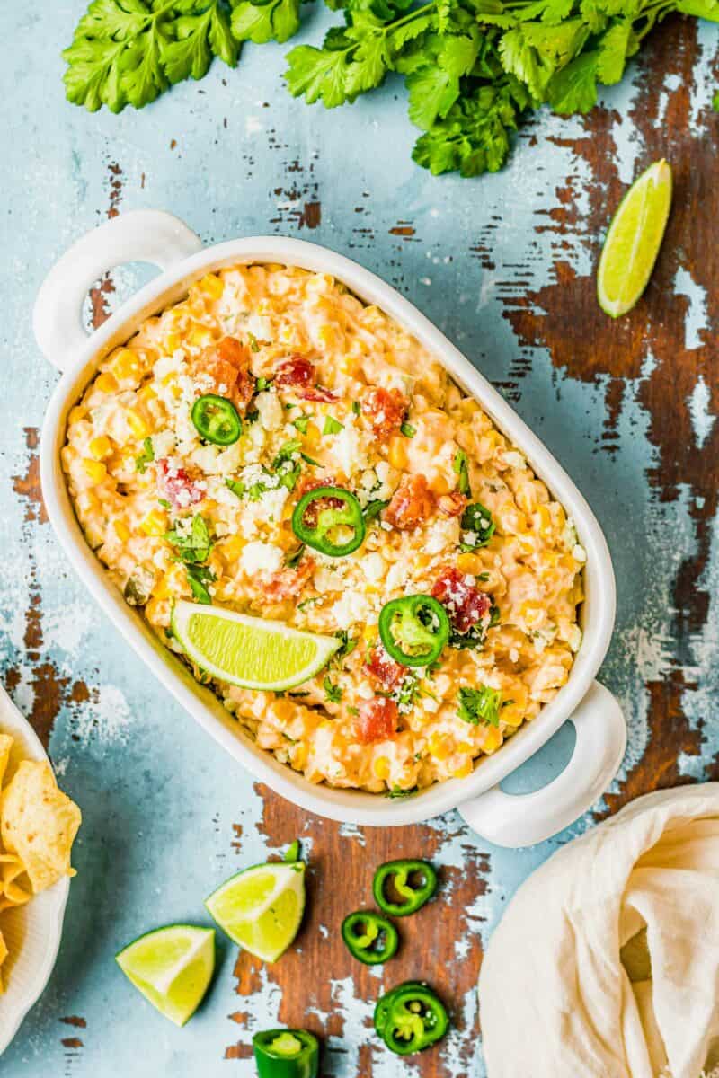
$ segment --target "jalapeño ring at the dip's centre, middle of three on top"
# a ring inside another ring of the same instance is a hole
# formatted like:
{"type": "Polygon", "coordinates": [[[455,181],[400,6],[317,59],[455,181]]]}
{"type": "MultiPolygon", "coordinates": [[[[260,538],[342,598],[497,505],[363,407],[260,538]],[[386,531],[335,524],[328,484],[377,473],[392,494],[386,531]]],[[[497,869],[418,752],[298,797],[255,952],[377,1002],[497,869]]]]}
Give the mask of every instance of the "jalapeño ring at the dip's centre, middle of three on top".
{"type": "Polygon", "coordinates": [[[292,513],[292,530],[301,542],[328,557],[344,557],[364,539],[362,507],[342,486],[318,486],[300,498],[292,513]]]}

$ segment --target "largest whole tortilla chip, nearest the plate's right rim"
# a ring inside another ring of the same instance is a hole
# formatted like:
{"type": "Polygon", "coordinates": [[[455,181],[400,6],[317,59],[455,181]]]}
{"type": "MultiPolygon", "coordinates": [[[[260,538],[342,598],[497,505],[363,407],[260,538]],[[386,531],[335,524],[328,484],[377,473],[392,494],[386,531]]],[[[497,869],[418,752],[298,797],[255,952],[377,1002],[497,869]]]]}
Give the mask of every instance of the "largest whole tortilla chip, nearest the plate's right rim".
{"type": "Polygon", "coordinates": [[[81,820],[50,764],[23,760],[2,791],[0,834],[8,853],[25,866],[36,895],[60,876],[74,875],[70,851],[81,820]]]}

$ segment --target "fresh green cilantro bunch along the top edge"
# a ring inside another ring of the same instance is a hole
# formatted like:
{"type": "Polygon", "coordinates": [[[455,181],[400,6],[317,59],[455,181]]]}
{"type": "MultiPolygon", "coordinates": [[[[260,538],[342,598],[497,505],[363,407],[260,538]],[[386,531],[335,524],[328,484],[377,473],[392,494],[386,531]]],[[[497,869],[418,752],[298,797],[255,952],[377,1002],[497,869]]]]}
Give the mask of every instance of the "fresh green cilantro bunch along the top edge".
{"type": "MultiPolygon", "coordinates": [[[[587,112],[619,82],[670,12],[719,22],[719,0],[324,0],[342,11],[320,47],[288,55],[286,81],[333,109],[404,79],[423,134],[413,157],[432,174],[497,171],[522,116],[548,102],[587,112]]],[[[284,42],[301,0],[93,0],[65,50],[67,96],[91,111],[141,108],[201,79],[213,56],[235,67],[244,41],[284,42]]]]}

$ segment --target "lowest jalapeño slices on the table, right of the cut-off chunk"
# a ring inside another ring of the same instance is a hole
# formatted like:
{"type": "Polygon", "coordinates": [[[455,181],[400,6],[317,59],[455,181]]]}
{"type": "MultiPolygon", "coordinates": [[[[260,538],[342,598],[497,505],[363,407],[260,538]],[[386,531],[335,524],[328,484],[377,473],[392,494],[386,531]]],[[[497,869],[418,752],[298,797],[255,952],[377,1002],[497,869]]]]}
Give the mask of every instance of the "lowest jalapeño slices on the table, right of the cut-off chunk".
{"type": "Polygon", "coordinates": [[[374,1012],[374,1027],[398,1055],[412,1055],[437,1044],[450,1026],[444,1005],[431,989],[407,981],[383,996],[374,1012]]]}

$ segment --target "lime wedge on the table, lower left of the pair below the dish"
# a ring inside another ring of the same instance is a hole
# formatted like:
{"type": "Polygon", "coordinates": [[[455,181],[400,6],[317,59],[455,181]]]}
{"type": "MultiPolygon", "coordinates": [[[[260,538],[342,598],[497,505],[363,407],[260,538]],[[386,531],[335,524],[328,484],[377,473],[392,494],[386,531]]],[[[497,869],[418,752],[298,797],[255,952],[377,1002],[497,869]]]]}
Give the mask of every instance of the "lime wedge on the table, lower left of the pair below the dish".
{"type": "Polygon", "coordinates": [[[168,925],[115,955],[125,977],[176,1025],[197,1010],[215,970],[215,929],[168,925]]]}

